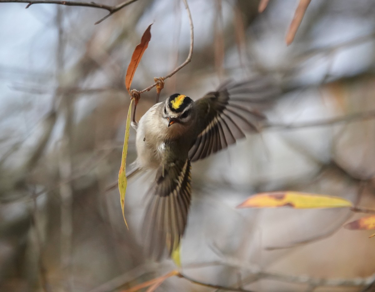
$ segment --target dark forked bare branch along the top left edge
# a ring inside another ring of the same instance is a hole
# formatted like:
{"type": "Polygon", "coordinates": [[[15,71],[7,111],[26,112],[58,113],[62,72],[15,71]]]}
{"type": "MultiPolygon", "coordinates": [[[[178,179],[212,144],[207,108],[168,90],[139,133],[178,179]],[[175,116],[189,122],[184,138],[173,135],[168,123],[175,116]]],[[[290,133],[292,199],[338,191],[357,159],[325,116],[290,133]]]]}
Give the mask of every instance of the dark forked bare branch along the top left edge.
{"type": "Polygon", "coordinates": [[[109,14],[103,17],[102,19],[96,21],[95,24],[98,24],[98,23],[101,23],[103,20],[107,19],[108,17],[110,17],[115,12],[119,11],[120,9],[124,8],[125,6],[135,1],[137,0],[127,0],[118,5],[105,5],[101,3],[95,3],[95,2],[60,1],[60,0],[0,0],[0,3],[28,3],[26,8],[29,8],[33,4],[56,4],[56,5],[81,6],[81,7],[98,8],[98,9],[107,10],[109,14]]]}

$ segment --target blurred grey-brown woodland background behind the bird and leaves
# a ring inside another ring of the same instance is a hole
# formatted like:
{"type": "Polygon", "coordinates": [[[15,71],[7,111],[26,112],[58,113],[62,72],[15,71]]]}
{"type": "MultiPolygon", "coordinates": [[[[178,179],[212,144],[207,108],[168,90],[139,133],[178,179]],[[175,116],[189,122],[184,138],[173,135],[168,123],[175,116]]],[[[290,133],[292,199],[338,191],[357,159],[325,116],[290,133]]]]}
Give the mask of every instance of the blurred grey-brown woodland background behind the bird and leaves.
{"type": "MultiPolygon", "coordinates": [[[[193,164],[183,273],[254,291],[371,291],[371,231],[341,227],[362,214],[236,206],[261,191],[295,190],[375,208],[374,1],[313,0],[290,46],[297,1],[270,0],[262,14],[259,1],[188,4],[192,62],[166,80],[162,99],[196,99],[228,78],[260,74],[282,93],[263,132],[193,164]]],[[[153,23],[132,88],[186,59],[183,3],[139,0],[98,25],[105,10],[0,6],[0,291],[121,291],[175,269],[142,252],[150,178],[128,182],[129,230],[117,187],[108,188],[121,163],[130,57],[153,23]]],[[[137,119],[155,96],[142,94],[137,119]]],[[[131,129],[129,163],[134,140],[131,129]]],[[[177,277],[158,288],[213,290],[177,277]]]]}

